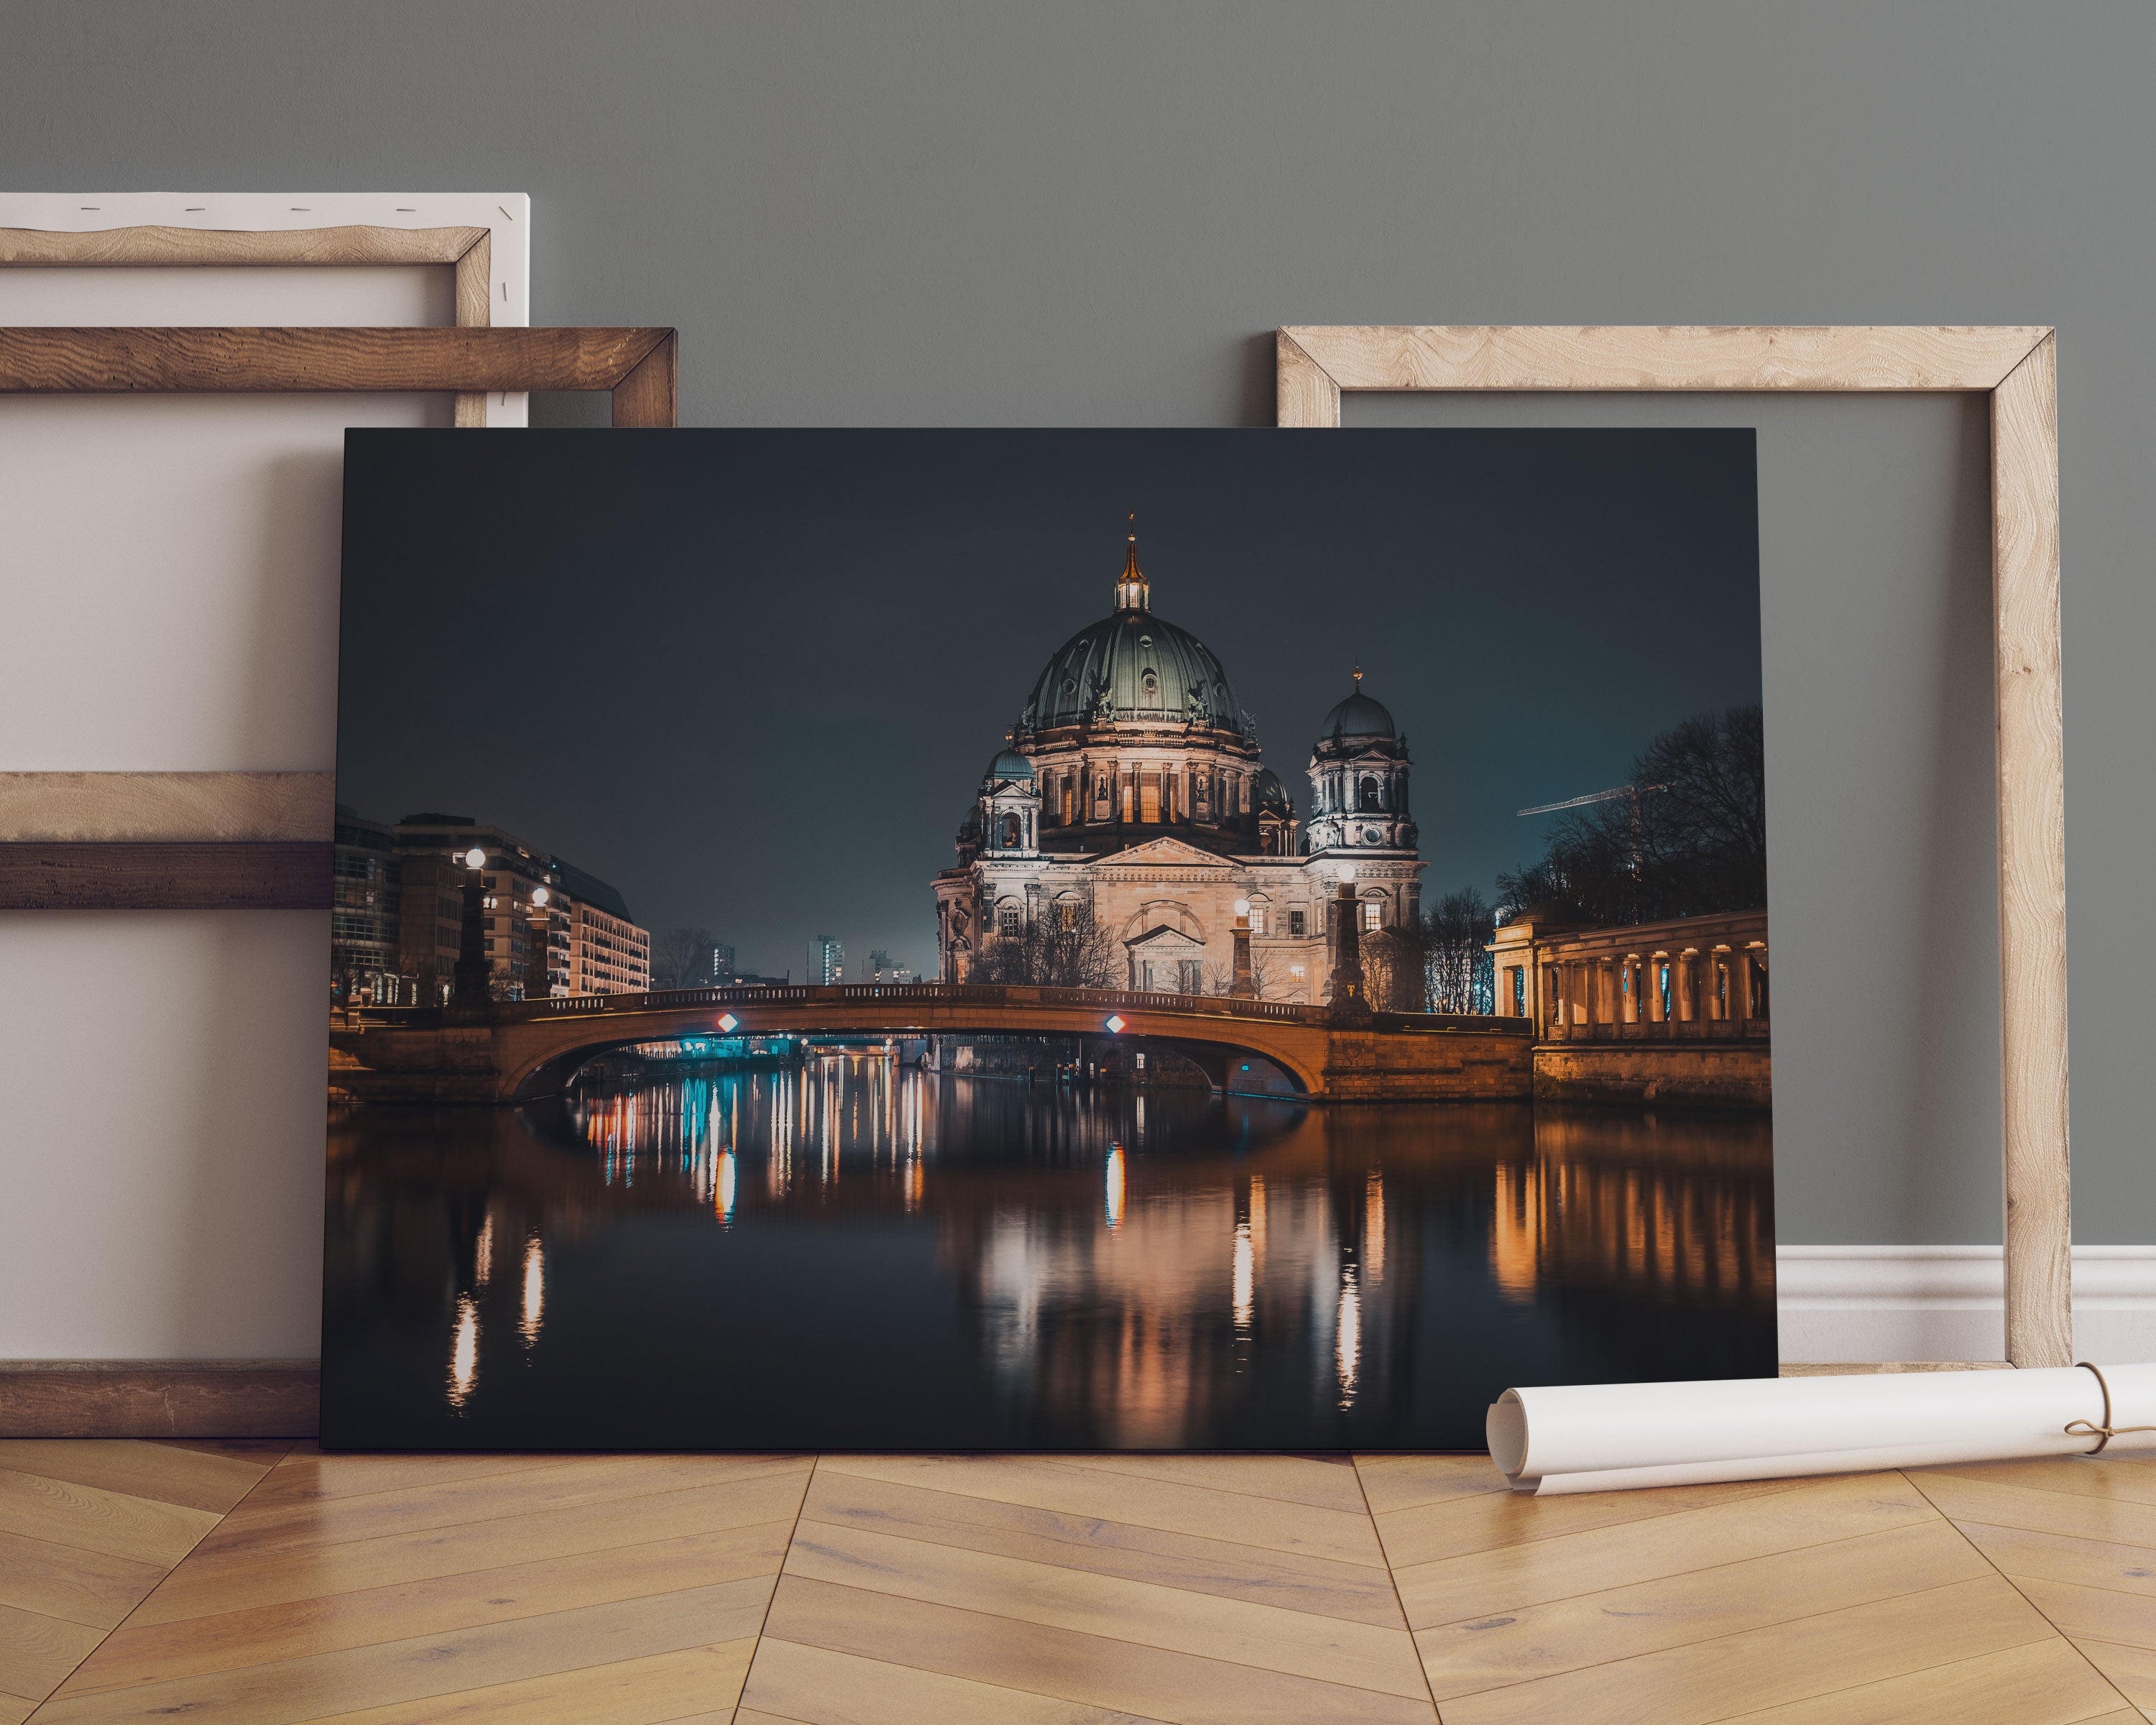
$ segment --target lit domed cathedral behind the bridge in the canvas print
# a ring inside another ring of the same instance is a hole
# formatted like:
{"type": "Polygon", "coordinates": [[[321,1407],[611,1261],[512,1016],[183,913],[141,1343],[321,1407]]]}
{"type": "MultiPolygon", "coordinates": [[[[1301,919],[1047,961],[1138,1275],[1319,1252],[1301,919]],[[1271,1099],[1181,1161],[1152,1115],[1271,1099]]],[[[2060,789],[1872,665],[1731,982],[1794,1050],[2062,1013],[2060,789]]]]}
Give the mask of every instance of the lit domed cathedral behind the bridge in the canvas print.
{"type": "Polygon", "coordinates": [[[1376,934],[1416,919],[1423,875],[1408,740],[1360,671],[1309,778],[1304,828],[1220,660],[1153,612],[1132,535],[1115,610],[1041,668],[936,878],[942,979],[1227,994],[1242,901],[1253,990],[1328,998],[1339,886],[1376,934]]]}

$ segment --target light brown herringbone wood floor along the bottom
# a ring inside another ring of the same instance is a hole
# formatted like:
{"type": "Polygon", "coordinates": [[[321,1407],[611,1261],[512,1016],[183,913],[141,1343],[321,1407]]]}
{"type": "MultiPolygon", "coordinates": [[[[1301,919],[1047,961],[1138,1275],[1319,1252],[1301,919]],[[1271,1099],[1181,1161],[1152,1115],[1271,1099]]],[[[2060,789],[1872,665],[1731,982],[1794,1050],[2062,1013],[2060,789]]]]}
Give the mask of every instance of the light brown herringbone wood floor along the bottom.
{"type": "Polygon", "coordinates": [[[0,1443],[0,1725],[2156,1719],[2156,1462],[0,1443]],[[50,1697],[50,1699],[47,1699],[50,1697]]]}

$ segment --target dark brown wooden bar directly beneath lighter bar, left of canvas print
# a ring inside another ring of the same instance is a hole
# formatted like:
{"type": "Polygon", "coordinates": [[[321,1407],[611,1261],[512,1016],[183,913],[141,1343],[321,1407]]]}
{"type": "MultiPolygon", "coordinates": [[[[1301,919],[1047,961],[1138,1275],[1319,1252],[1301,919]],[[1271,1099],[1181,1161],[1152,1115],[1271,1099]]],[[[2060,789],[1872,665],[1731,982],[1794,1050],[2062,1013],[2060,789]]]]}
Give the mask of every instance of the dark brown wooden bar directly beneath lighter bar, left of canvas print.
{"type": "Polygon", "coordinates": [[[0,910],[328,908],[328,843],[0,843],[0,910]]]}

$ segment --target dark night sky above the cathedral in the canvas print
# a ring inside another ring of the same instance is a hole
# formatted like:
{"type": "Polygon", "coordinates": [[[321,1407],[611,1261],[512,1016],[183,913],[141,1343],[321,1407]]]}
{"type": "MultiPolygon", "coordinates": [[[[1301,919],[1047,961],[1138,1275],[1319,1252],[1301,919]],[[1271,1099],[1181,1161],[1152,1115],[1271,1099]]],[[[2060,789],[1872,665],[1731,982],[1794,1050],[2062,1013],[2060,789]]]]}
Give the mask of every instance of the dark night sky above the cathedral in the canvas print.
{"type": "Polygon", "coordinates": [[[1304,811],[1363,664],[1425,903],[1759,701],[1751,429],[349,431],[338,800],[505,826],[748,970],[934,975],[929,878],[1128,511],[1304,811]]]}

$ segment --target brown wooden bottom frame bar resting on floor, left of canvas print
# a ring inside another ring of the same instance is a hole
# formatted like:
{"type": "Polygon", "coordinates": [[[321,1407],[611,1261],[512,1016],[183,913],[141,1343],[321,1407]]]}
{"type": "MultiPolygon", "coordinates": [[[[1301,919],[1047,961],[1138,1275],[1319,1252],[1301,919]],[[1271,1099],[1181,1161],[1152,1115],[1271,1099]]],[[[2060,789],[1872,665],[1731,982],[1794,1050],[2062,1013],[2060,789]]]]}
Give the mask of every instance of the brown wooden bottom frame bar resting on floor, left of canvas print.
{"type": "Polygon", "coordinates": [[[0,1361],[0,1438],[313,1436],[315,1361],[0,1361]]]}

